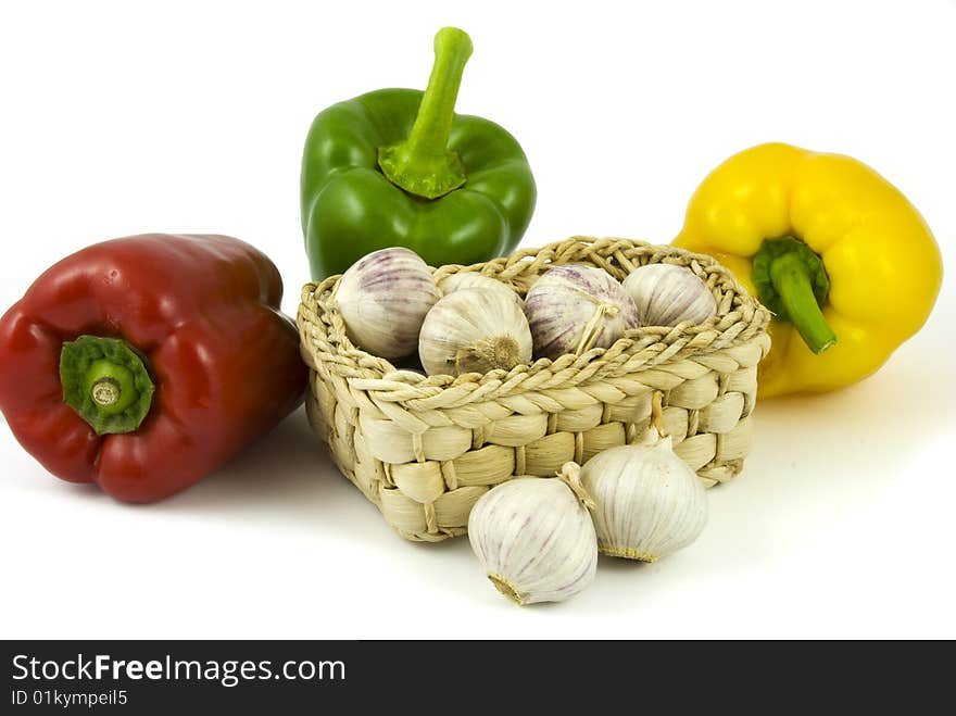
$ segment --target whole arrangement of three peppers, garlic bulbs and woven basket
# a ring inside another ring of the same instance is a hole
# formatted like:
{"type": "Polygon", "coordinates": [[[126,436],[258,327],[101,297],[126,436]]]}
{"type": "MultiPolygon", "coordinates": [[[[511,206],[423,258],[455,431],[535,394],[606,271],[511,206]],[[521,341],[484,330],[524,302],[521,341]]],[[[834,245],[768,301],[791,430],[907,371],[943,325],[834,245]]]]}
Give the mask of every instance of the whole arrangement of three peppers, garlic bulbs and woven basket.
{"type": "Polygon", "coordinates": [[[855,160],[781,143],[704,180],[687,251],[576,237],[479,264],[518,243],[536,185],[510,134],[454,113],[471,49],[443,28],[424,92],[315,117],[301,219],[325,280],[303,291],[301,347],[276,267],[229,237],[117,239],[40,276],[0,318],[23,447],[118,500],[165,498],[300,404],[301,348],[310,419],[389,522],[436,540],[467,524],[502,593],[561,601],[599,552],[654,562],[701,535],[694,469],[740,468],[767,309],[762,398],[859,380],[927,319],[942,265],[914,206],[855,160]]]}

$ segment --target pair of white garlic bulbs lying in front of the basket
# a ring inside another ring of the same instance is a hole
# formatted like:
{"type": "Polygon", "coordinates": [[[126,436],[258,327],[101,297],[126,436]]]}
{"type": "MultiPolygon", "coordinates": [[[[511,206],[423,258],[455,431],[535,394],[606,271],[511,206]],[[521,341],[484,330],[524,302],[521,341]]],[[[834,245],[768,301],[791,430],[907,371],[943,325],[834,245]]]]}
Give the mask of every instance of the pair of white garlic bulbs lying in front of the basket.
{"type": "MultiPolygon", "coordinates": [[[[661,403],[654,401],[655,423],[661,403]]],[[[656,562],[691,544],[707,524],[694,472],[651,425],[633,444],[605,450],[557,478],[520,477],[492,488],[468,518],[471,549],[491,582],[518,604],[561,602],[594,578],[598,552],[656,562]]]]}

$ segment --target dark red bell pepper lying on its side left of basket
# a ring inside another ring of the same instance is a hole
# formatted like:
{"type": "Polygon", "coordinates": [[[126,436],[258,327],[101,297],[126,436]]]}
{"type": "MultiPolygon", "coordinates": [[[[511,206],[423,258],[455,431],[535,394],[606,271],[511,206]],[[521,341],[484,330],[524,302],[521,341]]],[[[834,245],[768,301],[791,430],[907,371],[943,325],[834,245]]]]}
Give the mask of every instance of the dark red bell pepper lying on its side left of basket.
{"type": "Polygon", "coordinates": [[[151,502],[302,401],[273,263],[225,236],[143,235],[60,261],[0,318],[0,411],[53,475],[151,502]]]}

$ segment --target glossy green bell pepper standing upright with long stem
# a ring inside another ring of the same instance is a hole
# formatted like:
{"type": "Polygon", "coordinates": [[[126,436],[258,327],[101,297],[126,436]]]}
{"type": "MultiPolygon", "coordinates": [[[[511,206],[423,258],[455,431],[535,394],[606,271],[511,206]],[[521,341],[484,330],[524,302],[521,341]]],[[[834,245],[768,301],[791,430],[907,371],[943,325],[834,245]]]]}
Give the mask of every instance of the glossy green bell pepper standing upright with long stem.
{"type": "Polygon", "coordinates": [[[454,113],[471,41],[435,38],[425,92],[382,89],[315,117],[302,159],[302,230],[319,280],[388,247],[470,264],[511,252],[534,210],[528,160],[502,127],[454,113]]]}

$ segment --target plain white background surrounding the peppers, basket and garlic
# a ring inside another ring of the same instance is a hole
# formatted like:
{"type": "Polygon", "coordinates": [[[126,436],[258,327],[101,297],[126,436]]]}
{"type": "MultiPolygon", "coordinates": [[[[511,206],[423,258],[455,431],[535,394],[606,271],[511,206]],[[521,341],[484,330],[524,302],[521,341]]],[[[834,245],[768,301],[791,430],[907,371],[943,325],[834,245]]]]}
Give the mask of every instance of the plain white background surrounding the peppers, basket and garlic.
{"type": "MultiPolygon", "coordinates": [[[[0,10],[0,306],[61,256],[148,230],[255,243],[294,313],[309,124],[424,87],[469,32],[458,109],[534,169],[524,246],[667,242],[691,191],[767,140],[865,160],[956,266],[952,2],[83,2],[0,10]]],[[[45,473],[0,425],[0,637],[956,637],[952,273],[875,377],[760,403],[701,539],[517,608],[467,540],[406,543],[291,416],[151,506],[45,473]]]]}

